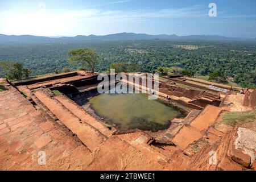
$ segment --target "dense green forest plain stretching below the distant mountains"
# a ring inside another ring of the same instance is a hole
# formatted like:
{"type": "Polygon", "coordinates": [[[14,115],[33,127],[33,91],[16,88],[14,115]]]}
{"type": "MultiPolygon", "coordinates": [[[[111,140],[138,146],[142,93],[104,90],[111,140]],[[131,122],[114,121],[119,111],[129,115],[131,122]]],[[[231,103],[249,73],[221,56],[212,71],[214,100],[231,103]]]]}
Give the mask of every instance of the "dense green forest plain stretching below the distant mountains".
{"type": "MultiPolygon", "coordinates": [[[[68,52],[93,48],[101,56],[96,71],[107,71],[112,63],[138,64],[142,72],[158,67],[186,68],[200,75],[220,72],[242,86],[256,84],[256,43],[213,41],[127,40],[0,45],[0,61],[20,61],[32,75],[55,69],[77,69],[68,63],[68,52]]],[[[0,70],[0,76],[3,72],[0,70]]]]}

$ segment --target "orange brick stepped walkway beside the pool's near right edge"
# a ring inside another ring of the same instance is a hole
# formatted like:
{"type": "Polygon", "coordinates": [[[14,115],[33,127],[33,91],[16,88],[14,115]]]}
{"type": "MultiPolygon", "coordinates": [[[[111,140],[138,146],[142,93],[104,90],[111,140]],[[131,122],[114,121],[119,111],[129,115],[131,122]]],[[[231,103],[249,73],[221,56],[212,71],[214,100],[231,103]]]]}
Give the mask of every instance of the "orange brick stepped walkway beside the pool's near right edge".
{"type": "Polygon", "coordinates": [[[206,143],[214,143],[223,133],[212,126],[220,117],[220,107],[208,105],[203,111],[192,110],[187,117],[174,119],[167,130],[151,133],[158,144],[174,145],[187,155],[193,155],[191,148],[204,146],[206,143]]]}

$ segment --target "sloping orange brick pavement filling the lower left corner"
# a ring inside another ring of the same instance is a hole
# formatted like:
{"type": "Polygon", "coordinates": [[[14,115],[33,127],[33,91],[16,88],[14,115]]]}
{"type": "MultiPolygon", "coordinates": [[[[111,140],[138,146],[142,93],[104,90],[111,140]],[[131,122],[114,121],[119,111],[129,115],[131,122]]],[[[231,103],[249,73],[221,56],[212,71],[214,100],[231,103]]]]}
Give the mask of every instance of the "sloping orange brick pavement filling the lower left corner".
{"type": "Polygon", "coordinates": [[[71,131],[44,118],[18,90],[8,88],[0,92],[0,170],[78,170],[90,163],[90,151],[71,131]],[[46,165],[38,163],[42,151],[46,165]]]}

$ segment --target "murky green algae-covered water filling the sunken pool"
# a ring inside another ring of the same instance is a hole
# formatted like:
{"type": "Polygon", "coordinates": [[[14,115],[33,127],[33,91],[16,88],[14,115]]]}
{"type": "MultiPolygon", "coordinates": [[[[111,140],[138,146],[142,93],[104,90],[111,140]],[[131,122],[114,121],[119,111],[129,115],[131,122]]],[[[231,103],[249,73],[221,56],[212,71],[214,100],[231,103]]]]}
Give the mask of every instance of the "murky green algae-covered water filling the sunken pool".
{"type": "Polygon", "coordinates": [[[175,107],[148,100],[148,95],[142,93],[100,94],[91,98],[89,104],[97,115],[120,130],[164,130],[181,114],[175,107]]]}

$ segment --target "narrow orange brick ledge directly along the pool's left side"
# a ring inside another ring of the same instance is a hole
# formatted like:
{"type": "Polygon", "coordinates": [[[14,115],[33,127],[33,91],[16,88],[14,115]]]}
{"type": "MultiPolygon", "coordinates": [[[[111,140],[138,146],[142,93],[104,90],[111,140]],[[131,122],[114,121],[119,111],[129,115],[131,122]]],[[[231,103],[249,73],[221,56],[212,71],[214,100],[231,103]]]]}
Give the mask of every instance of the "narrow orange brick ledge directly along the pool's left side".
{"type": "Polygon", "coordinates": [[[71,111],[74,115],[76,115],[76,117],[80,118],[82,122],[92,125],[107,137],[110,137],[115,132],[115,129],[113,127],[112,129],[109,129],[108,127],[104,126],[101,122],[97,121],[97,119],[92,117],[92,115],[86,113],[86,111],[82,109],[82,107],[77,105],[68,97],[55,96],[55,98],[56,100],[61,102],[61,104],[63,104],[69,111],[71,111]]]}

